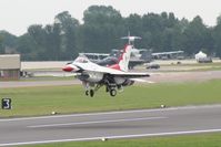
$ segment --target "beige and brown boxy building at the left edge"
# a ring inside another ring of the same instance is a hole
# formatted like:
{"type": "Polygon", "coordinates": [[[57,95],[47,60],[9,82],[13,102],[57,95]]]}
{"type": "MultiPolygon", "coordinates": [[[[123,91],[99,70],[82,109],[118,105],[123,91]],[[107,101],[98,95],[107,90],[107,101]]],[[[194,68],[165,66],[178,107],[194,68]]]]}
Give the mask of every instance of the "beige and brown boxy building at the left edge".
{"type": "Polygon", "coordinates": [[[0,81],[19,80],[20,69],[20,54],[0,55],[0,81]]]}

